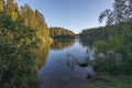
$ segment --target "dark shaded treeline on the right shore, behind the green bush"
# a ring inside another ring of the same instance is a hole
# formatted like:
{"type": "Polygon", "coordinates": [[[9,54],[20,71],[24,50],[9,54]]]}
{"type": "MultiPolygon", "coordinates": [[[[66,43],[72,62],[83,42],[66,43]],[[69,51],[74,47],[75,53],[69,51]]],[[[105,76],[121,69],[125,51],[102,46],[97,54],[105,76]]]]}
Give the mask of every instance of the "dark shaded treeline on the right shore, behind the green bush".
{"type": "Polygon", "coordinates": [[[85,29],[80,32],[80,41],[92,44],[97,40],[107,40],[110,35],[122,34],[131,30],[132,22],[121,22],[113,25],[106,25],[92,29],[85,29]]]}

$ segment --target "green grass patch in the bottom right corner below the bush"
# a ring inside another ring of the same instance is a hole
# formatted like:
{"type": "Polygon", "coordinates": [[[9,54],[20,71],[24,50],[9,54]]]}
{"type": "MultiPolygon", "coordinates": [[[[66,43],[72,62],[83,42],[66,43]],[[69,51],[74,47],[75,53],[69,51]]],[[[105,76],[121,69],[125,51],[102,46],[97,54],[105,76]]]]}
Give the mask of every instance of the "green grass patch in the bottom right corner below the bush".
{"type": "Polygon", "coordinates": [[[84,88],[132,88],[132,76],[98,75],[91,78],[84,88]]]}

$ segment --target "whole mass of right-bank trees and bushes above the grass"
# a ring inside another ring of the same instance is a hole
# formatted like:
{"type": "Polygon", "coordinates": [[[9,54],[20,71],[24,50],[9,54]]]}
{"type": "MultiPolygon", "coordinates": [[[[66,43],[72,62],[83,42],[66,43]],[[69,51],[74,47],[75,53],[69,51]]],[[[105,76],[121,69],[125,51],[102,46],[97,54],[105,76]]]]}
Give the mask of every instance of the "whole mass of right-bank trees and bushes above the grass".
{"type": "Polygon", "coordinates": [[[82,30],[80,40],[96,47],[96,68],[111,74],[132,74],[132,1],[116,0],[113,10],[101,12],[99,21],[107,18],[107,25],[82,30]],[[100,57],[99,54],[103,54],[100,57]],[[103,58],[105,61],[99,61],[103,58]],[[120,63],[117,62],[120,59],[120,63]]]}

